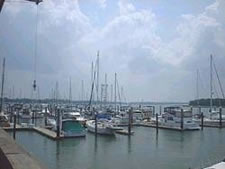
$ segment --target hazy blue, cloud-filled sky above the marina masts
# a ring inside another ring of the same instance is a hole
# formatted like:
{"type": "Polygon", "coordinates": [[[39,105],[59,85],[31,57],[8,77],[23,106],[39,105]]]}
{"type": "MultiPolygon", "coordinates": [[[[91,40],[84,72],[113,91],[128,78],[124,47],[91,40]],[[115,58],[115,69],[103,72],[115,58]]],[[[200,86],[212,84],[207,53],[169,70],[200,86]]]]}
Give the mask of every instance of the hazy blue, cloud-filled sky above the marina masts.
{"type": "MultiPolygon", "coordinates": [[[[114,84],[116,72],[122,100],[193,100],[197,70],[199,97],[206,98],[210,54],[225,87],[224,39],[224,0],[43,0],[38,6],[6,0],[0,13],[4,95],[31,98],[36,77],[41,98],[52,97],[56,82],[60,97],[68,98],[69,79],[73,100],[81,99],[82,81],[89,98],[99,50],[100,83],[107,74],[114,84]]],[[[215,72],[213,86],[213,97],[221,97],[215,72]]]]}

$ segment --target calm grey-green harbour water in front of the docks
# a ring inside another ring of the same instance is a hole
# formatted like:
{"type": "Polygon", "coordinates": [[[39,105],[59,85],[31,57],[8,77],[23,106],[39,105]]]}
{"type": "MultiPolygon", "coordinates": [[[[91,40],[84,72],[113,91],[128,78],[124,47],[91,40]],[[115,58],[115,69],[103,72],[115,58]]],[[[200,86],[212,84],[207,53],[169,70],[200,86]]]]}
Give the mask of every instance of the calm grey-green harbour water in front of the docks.
{"type": "Polygon", "coordinates": [[[225,157],[225,129],[179,132],[134,127],[131,137],[98,136],[52,141],[35,132],[17,132],[17,142],[49,169],[188,169],[225,157]]]}

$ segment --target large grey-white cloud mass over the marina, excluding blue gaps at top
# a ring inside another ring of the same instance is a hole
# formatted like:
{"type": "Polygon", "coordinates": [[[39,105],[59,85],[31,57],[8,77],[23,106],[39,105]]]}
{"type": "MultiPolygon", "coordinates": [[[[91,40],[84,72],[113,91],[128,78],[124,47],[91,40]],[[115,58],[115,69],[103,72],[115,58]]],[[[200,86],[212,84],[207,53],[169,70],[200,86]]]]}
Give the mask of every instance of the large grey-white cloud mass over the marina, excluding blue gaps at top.
{"type": "MultiPolygon", "coordinates": [[[[97,50],[100,50],[101,81],[104,73],[108,73],[108,81],[113,83],[117,72],[129,100],[193,99],[196,69],[200,68],[202,77],[208,77],[211,53],[215,55],[221,81],[225,81],[223,0],[206,6],[202,12],[180,15],[174,27],[175,36],[166,41],[158,29],[166,29],[167,25],[161,25],[157,13],[150,8],[142,9],[129,0],[118,0],[116,9],[111,9],[106,0],[95,2],[105,9],[101,13],[95,11],[96,15],[108,15],[113,10],[113,16],[98,26],[80,9],[78,0],[48,0],[40,4],[38,73],[45,93],[49,93],[56,80],[60,81],[62,91],[67,90],[69,76],[76,82],[74,92],[79,92],[81,79],[89,88],[90,66],[97,50]]],[[[29,77],[25,81],[30,84],[36,8],[31,4],[20,5],[15,12],[9,7],[3,11],[4,18],[0,16],[0,22],[4,23],[0,27],[3,37],[0,51],[10,62],[11,79],[24,72],[29,77]],[[9,46],[15,48],[10,50],[9,46]]],[[[14,83],[20,80],[15,79],[14,83]]],[[[208,78],[203,80],[208,83],[208,78]]],[[[22,86],[24,82],[19,83],[22,86]]],[[[201,92],[207,97],[208,91],[201,92]]]]}

